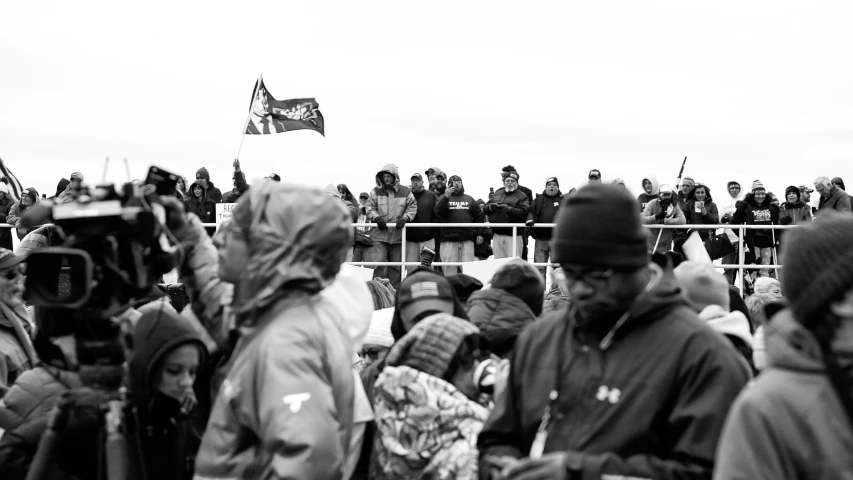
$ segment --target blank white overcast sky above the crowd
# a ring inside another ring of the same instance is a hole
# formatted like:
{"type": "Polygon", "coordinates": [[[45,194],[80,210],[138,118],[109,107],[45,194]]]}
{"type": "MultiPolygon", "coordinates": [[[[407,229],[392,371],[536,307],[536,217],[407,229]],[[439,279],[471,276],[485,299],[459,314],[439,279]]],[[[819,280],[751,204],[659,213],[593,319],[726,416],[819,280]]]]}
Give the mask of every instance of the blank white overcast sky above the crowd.
{"type": "MultiPolygon", "coordinates": [[[[373,186],[393,162],[485,197],[500,169],[564,192],[686,175],[723,199],[853,183],[853,2],[4,2],[0,157],[52,195],[150,164],[223,191],[252,87],[316,97],[326,138],[249,136],[250,180],[373,186]]],[[[853,185],[851,185],[853,190],[853,185]]]]}

